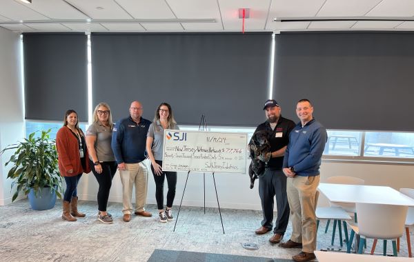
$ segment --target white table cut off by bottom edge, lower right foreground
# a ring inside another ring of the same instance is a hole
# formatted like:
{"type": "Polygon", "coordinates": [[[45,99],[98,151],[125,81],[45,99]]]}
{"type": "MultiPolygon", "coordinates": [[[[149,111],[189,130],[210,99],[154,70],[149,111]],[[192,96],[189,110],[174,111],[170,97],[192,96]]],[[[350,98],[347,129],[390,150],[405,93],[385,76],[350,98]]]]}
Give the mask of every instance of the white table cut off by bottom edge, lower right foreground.
{"type": "Polygon", "coordinates": [[[366,254],[347,254],[341,252],[325,252],[325,251],[315,251],[317,261],[319,262],[403,262],[403,261],[413,261],[408,257],[395,257],[395,256],[371,256],[366,254]]]}

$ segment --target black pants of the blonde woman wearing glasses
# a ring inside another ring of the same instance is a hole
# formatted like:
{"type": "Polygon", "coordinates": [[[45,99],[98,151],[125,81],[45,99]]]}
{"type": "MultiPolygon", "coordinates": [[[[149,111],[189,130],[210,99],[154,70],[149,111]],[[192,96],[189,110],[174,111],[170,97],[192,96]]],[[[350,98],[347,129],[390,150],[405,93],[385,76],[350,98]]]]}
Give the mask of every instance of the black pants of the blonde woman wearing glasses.
{"type": "Polygon", "coordinates": [[[97,179],[99,183],[99,190],[98,190],[98,210],[99,211],[106,211],[106,206],[108,205],[109,199],[109,192],[110,187],[112,186],[112,179],[115,176],[115,172],[117,172],[117,162],[116,161],[108,161],[102,162],[102,172],[98,174],[95,171],[94,163],[89,159],[89,165],[92,169],[92,173],[97,179]]]}

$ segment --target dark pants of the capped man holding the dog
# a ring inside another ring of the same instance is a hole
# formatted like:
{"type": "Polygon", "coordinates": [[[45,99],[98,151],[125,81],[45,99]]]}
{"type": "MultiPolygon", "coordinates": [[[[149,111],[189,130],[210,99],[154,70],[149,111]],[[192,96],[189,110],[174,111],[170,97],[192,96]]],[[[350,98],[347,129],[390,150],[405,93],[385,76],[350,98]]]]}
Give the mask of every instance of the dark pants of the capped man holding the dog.
{"type": "Polygon", "coordinates": [[[259,179],[259,196],[262,201],[263,220],[265,228],[273,228],[273,198],[276,195],[277,219],[275,223],[275,234],[284,234],[288,227],[290,208],[286,194],[287,177],[282,170],[266,168],[263,177],[259,179]]]}

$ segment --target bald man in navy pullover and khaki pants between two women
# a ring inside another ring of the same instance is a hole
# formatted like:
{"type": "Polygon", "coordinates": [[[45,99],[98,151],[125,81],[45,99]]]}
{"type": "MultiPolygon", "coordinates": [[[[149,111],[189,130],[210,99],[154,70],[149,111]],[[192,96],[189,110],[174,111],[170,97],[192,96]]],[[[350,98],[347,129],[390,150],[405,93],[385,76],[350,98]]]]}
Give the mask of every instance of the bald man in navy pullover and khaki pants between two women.
{"type": "Polygon", "coordinates": [[[146,134],[151,122],[141,117],[142,105],[133,101],[130,105],[130,116],[117,121],[112,132],[112,150],[117,159],[119,177],[122,183],[122,203],[124,221],[131,220],[132,189],[135,185],[135,214],[152,216],[145,211],[148,188],[148,170],[144,164],[146,159],[146,134]]]}

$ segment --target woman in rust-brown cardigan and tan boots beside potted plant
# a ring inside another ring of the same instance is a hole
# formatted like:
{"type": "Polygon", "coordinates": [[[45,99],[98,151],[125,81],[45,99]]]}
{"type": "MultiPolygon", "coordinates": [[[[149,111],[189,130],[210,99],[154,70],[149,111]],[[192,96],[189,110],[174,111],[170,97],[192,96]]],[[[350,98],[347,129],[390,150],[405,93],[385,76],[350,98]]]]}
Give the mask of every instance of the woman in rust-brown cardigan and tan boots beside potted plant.
{"type": "Polygon", "coordinates": [[[84,172],[90,172],[90,168],[87,161],[88,150],[86,148],[85,135],[79,128],[77,112],[75,110],[66,111],[63,127],[56,134],[56,148],[59,171],[66,181],[66,191],[63,195],[62,219],[77,221],[74,216],[85,216],[85,214],[77,210],[77,184],[84,172]]]}

